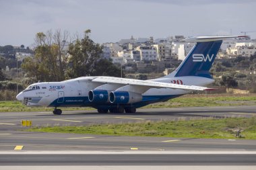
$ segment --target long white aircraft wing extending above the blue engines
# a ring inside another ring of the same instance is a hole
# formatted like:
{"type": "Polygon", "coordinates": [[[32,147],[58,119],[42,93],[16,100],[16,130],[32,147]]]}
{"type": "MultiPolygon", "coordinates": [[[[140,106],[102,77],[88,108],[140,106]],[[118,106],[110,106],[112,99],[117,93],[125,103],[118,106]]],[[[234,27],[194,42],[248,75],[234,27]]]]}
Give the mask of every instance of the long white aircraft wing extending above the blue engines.
{"type": "Polygon", "coordinates": [[[125,79],[119,77],[96,77],[92,79],[92,82],[97,83],[110,83],[110,84],[122,84],[122,85],[133,85],[133,86],[141,86],[141,87],[149,87],[149,88],[170,88],[170,89],[184,89],[184,90],[214,90],[208,87],[201,87],[195,85],[177,85],[172,83],[161,83],[156,81],[144,81],[137,79],[125,79]]]}

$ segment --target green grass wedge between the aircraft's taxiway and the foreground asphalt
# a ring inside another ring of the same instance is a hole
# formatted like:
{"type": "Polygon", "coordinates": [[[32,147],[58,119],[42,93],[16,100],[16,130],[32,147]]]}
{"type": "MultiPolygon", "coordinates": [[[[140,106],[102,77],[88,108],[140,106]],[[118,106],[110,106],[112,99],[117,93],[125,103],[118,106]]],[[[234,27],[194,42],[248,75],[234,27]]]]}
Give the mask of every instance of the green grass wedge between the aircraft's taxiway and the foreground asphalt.
{"type": "Polygon", "coordinates": [[[241,134],[245,139],[256,139],[256,117],[35,127],[28,131],[173,138],[235,138],[235,130],[238,128],[243,130],[241,134]]]}

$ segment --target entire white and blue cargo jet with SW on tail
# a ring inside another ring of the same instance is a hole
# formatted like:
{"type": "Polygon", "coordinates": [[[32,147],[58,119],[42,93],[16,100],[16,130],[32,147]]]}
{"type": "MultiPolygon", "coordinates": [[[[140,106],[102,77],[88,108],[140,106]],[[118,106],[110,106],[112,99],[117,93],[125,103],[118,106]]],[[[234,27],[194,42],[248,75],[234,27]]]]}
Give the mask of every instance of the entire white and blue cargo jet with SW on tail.
{"type": "Polygon", "coordinates": [[[119,77],[79,77],[61,82],[34,83],[17,95],[27,106],[55,108],[92,107],[99,113],[135,113],[150,103],[167,101],[191,91],[213,90],[204,87],[214,82],[210,68],[225,38],[245,36],[198,36],[185,39],[196,42],[181,65],[164,77],[151,80],[119,77]]]}

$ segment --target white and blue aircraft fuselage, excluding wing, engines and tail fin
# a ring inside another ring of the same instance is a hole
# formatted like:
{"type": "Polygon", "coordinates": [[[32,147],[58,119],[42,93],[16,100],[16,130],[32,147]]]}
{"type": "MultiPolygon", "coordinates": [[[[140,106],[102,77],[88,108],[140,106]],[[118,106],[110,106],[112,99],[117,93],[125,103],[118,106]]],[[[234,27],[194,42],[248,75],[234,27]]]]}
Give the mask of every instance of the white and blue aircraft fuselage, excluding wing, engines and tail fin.
{"type": "MultiPolygon", "coordinates": [[[[22,101],[28,106],[44,106],[44,107],[69,107],[69,106],[92,106],[94,103],[88,101],[88,93],[90,90],[96,89],[104,83],[96,83],[90,81],[94,77],[79,77],[77,79],[70,79],[68,81],[61,82],[44,82],[34,83],[27,89],[22,91],[17,99],[22,101]]],[[[150,81],[156,81],[161,83],[174,83],[179,85],[197,85],[205,86],[213,83],[213,79],[205,77],[162,77],[160,79],[153,79],[150,81]]],[[[142,93],[144,99],[151,97],[150,103],[162,101],[162,99],[170,99],[173,97],[179,97],[190,93],[190,90],[183,89],[170,89],[170,88],[151,88],[148,91],[142,93]]],[[[143,99],[138,102],[139,105],[146,105],[143,103],[143,99]]],[[[105,103],[107,105],[108,103],[105,103]]],[[[110,104],[110,103],[109,103],[110,104]]]]}

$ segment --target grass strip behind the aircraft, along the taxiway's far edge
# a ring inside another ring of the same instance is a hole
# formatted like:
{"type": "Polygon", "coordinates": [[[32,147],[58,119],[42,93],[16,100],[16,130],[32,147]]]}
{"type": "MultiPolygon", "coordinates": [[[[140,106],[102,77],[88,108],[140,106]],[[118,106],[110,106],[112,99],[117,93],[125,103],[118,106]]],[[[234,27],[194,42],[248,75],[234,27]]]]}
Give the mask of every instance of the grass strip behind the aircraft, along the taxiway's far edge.
{"type": "MultiPolygon", "coordinates": [[[[255,105],[256,94],[251,95],[184,95],[170,99],[166,102],[158,102],[146,105],[144,108],[179,108],[199,106],[225,106],[225,105],[255,105]]],[[[92,108],[61,108],[62,110],[92,110],[92,108]]],[[[32,112],[53,111],[53,108],[29,108],[19,101],[0,101],[0,112],[32,112]]]]}

